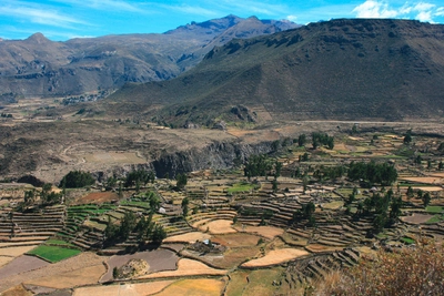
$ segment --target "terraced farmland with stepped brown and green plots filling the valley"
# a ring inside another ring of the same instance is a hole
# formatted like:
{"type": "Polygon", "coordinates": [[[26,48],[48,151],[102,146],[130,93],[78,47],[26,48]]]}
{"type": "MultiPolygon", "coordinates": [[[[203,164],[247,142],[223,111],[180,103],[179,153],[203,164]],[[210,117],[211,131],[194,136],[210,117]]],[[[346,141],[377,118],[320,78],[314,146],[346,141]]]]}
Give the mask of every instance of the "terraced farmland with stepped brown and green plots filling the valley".
{"type": "Polygon", "coordinates": [[[139,170],[60,201],[3,186],[0,292],[297,295],[379,251],[443,242],[442,139],[354,126],[273,141],[231,170],[139,170]]]}

